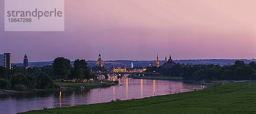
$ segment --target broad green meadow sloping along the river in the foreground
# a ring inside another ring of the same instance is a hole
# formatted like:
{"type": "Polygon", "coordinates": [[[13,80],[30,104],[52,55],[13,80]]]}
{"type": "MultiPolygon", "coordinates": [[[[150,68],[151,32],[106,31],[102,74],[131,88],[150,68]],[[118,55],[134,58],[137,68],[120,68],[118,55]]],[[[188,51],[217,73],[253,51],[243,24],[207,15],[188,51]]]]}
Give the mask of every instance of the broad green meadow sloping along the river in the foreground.
{"type": "Polygon", "coordinates": [[[256,82],[225,83],[204,90],[64,108],[25,114],[169,114],[256,113],[256,82]]]}

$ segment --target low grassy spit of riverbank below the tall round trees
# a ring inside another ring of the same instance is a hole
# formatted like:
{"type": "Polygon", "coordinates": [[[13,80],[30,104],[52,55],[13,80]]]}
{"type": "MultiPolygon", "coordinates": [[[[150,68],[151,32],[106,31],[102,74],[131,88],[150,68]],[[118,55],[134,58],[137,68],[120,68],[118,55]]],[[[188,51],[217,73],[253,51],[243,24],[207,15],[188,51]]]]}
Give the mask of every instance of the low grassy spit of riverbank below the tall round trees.
{"type": "Polygon", "coordinates": [[[94,82],[84,82],[84,83],[69,83],[69,82],[55,82],[57,85],[64,88],[80,88],[80,86],[84,86],[84,88],[98,88],[98,87],[110,87],[116,84],[111,83],[112,81],[104,81],[103,83],[98,80],[94,82]]]}

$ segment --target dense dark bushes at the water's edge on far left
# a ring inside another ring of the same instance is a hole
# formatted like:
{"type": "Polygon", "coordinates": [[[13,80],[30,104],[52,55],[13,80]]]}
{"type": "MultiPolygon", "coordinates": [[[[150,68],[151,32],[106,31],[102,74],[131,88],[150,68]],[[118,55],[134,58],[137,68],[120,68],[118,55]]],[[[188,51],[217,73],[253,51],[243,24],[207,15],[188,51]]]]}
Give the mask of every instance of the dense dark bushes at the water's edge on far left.
{"type": "Polygon", "coordinates": [[[14,67],[12,70],[7,70],[6,67],[0,66],[0,70],[0,89],[26,91],[56,87],[52,78],[37,67],[28,69],[14,67]]]}

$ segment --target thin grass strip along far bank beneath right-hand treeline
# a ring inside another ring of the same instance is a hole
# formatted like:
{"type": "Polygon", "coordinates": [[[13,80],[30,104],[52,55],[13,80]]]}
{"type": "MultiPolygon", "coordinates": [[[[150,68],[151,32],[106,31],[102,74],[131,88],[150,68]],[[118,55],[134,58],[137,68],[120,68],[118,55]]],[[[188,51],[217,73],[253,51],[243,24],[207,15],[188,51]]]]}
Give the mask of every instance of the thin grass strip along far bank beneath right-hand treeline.
{"type": "Polygon", "coordinates": [[[167,76],[136,76],[138,79],[156,79],[156,80],[170,80],[170,81],[183,81],[183,77],[167,77],[167,76]]]}

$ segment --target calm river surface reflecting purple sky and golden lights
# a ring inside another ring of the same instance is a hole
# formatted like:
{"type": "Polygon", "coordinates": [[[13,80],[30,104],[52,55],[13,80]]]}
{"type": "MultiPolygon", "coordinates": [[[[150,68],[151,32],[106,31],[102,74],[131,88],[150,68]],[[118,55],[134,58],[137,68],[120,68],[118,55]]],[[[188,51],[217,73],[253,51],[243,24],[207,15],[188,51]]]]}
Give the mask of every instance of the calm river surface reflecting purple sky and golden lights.
{"type": "Polygon", "coordinates": [[[132,78],[118,78],[117,80],[122,83],[122,86],[0,95],[0,114],[15,114],[43,109],[43,107],[103,103],[116,98],[127,100],[202,89],[199,83],[132,78]]]}

